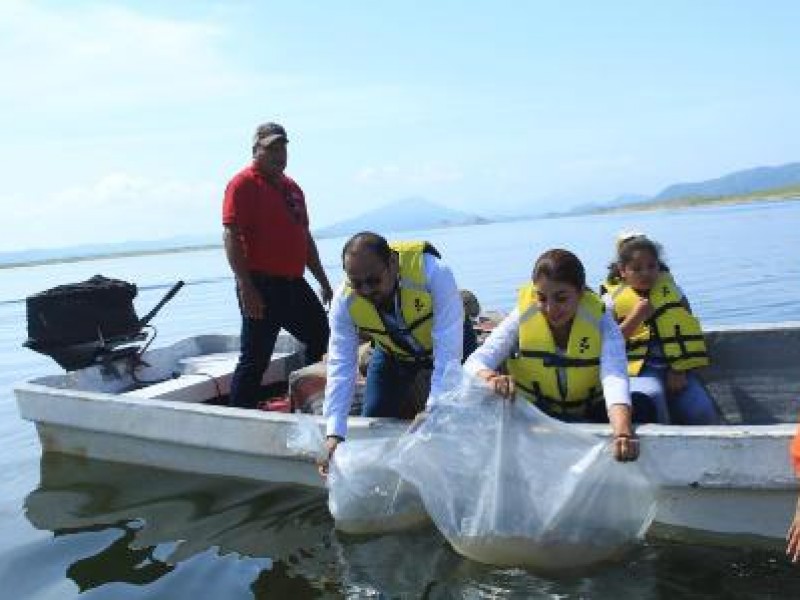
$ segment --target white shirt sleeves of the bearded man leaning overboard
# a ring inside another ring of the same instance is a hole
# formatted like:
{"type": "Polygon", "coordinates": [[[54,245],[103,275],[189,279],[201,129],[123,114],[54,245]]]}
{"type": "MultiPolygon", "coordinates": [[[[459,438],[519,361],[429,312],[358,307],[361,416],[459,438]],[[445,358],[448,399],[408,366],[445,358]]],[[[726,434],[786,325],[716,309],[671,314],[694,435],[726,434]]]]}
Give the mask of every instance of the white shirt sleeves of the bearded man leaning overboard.
{"type": "MultiPolygon", "coordinates": [[[[446,365],[461,362],[464,345],[464,305],[450,267],[431,254],[423,256],[425,289],[433,300],[433,374],[431,394],[440,390],[446,365]]],[[[328,379],[322,414],[327,435],[345,437],[347,415],[353,403],[358,371],[358,329],[347,308],[342,284],[333,296],[328,314],[328,379]]]]}

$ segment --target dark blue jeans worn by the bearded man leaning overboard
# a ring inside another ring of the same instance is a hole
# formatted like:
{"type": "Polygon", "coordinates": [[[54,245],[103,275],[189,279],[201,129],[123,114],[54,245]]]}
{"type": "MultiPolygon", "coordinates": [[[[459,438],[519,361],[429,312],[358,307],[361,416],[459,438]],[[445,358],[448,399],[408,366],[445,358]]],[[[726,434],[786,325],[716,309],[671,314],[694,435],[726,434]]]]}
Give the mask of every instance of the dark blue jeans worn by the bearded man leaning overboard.
{"type": "MultiPolygon", "coordinates": [[[[477,347],[478,342],[472,322],[464,319],[463,358],[466,359],[477,347]]],[[[367,369],[361,415],[413,418],[417,412],[425,408],[430,391],[430,376],[430,362],[398,360],[380,347],[376,347],[367,369]],[[422,381],[424,378],[427,379],[422,381]]]]}

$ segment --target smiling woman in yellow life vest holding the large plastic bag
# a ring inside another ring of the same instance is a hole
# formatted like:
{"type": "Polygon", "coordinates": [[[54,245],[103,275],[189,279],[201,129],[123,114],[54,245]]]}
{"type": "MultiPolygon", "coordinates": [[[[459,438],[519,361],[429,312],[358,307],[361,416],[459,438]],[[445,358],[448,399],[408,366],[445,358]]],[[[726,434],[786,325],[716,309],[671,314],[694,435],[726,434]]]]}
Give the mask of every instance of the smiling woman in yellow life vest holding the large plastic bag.
{"type": "Polygon", "coordinates": [[[615,458],[636,460],[639,443],[631,421],[647,419],[631,409],[619,327],[585,284],[577,256],[545,252],[516,308],[464,368],[500,397],[523,398],[557,419],[609,422],[615,458]]]}

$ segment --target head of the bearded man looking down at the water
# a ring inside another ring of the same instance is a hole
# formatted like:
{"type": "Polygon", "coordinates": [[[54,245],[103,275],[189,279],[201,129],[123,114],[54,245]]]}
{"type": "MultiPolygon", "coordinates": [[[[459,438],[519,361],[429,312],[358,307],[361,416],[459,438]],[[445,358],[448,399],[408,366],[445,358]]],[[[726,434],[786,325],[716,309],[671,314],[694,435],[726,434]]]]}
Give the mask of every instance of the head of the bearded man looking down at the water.
{"type": "Polygon", "coordinates": [[[387,305],[394,297],[400,269],[397,253],[377,233],[363,231],[347,240],[342,268],[353,291],[376,306],[387,305]]]}

